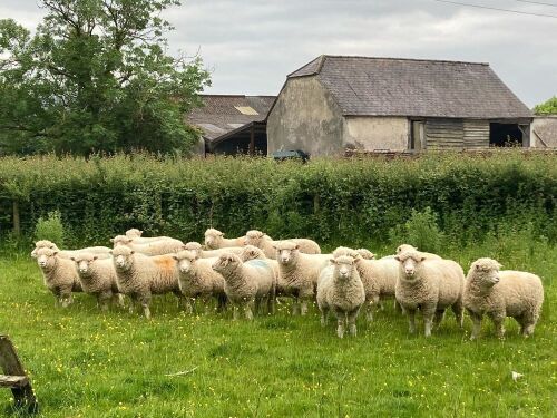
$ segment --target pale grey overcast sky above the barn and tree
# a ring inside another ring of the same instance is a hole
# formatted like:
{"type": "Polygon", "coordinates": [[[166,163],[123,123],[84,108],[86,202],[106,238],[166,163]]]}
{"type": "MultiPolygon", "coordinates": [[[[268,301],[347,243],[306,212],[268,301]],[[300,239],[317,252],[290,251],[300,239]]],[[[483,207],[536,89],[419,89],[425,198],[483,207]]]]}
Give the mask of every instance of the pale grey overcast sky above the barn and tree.
{"type": "MultiPolygon", "coordinates": [[[[165,16],[173,50],[199,50],[206,93],[276,95],[286,74],[321,54],[490,62],[528,106],[557,95],[557,0],[186,0],[165,16]]],[[[28,28],[35,0],[0,0],[0,18],[28,28]]]]}

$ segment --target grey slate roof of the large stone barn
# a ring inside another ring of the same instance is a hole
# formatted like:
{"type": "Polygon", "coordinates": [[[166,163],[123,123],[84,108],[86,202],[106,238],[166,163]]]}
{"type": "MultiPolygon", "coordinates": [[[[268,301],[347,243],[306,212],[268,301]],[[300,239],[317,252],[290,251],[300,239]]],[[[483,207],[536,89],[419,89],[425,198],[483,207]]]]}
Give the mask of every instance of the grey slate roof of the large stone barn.
{"type": "Polygon", "coordinates": [[[488,64],[321,56],[289,78],[317,76],[343,115],[530,118],[488,64]]]}

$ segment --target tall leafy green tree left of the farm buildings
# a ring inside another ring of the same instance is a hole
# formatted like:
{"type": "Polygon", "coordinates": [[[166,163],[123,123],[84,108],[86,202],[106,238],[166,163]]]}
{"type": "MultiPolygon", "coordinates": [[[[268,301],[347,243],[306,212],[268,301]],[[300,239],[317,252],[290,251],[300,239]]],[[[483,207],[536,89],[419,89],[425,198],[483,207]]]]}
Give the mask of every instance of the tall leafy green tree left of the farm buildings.
{"type": "Polygon", "coordinates": [[[184,114],[209,85],[199,57],[168,54],[179,0],[42,0],[33,36],[0,20],[0,154],[188,150],[184,114]]]}

